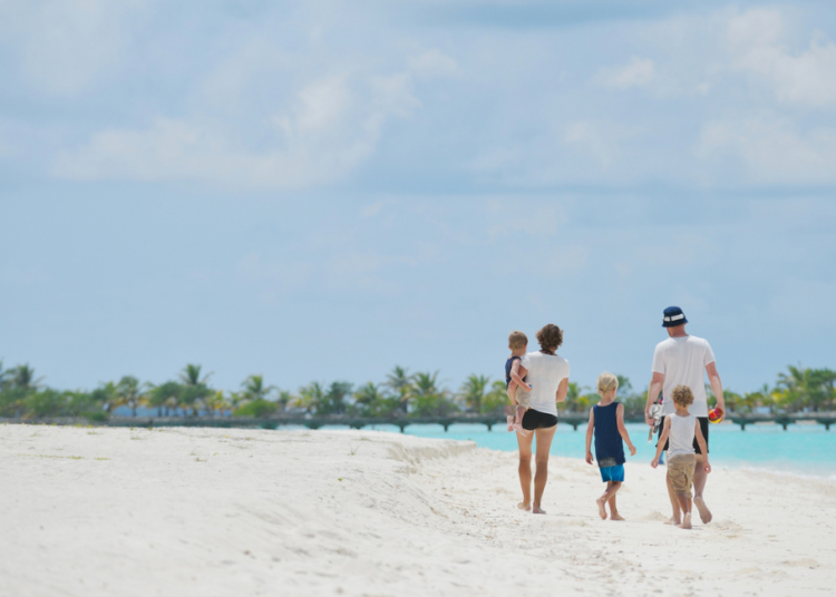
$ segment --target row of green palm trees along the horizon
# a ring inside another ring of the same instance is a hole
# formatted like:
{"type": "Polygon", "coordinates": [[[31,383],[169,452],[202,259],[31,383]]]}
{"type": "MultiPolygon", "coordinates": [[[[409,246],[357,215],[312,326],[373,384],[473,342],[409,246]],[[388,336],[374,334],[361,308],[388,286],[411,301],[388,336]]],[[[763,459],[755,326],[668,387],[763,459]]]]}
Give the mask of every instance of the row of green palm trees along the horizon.
{"type": "MultiPolygon", "coordinates": [[[[3,369],[0,362],[0,418],[86,417],[104,421],[118,413],[136,417],[139,409],[152,409],[156,417],[445,417],[456,412],[499,414],[508,400],[505,383],[486,375],[469,375],[456,391],[438,379],[438,372],[409,373],[396,366],[382,383],[353,386],[346,381],[330,384],[313,382],[297,392],[268,385],[263,375],[250,375],[237,391],[212,388],[211,374],[201,365],[187,364],[176,380],[162,384],[140,382],[125,375],[95,390],[55,390],[28,364],[3,369]]],[[[619,375],[619,400],[631,415],[644,408],[647,390],[634,392],[630,380],[619,375]]],[[[789,366],[775,386],[738,394],[726,391],[726,404],[732,412],[799,412],[836,409],[836,372],[829,369],[789,366]]],[[[709,389],[710,391],[710,389],[709,389]]],[[[570,383],[566,401],[558,405],[567,412],[585,412],[599,395],[587,386],[570,383]]]]}

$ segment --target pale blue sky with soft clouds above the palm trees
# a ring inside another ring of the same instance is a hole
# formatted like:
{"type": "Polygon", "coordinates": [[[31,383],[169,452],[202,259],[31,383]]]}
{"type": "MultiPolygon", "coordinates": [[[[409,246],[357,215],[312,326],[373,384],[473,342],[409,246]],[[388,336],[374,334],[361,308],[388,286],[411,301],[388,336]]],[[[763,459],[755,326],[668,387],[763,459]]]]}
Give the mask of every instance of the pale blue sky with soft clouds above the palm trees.
{"type": "Polygon", "coordinates": [[[0,0],[0,360],[235,390],[836,368],[828,2],[0,0]]]}

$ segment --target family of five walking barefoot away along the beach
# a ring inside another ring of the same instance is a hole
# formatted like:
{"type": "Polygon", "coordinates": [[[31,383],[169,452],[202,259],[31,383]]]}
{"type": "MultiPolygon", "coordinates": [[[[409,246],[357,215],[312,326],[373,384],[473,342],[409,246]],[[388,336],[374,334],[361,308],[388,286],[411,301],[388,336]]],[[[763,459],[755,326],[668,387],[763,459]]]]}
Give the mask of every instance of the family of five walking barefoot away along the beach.
{"type": "MultiPolygon", "coordinates": [[[[657,468],[660,456],[668,452],[668,496],[671,518],[665,521],[683,529],[691,528],[691,503],[697,506],[703,523],[711,521],[711,511],[703,497],[706,480],[711,472],[708,462],[709,411],[703,370],[708,373],[711,391],[717,399],[718,420],[726,405],[722,383],[717,373],[715,354],[707,340],[688,335],[688,320],[678,306],[664,310],[662,326],[669,337],[657,344],[653,352],[652,378],[648,388],[644,420],[651,429],[658,428],[657,453],[651,466],[657,468]],[[661,392],[661,410],[659,399],[661,392]],[[658,419],[657,415],[661,418],[658,419]],[[693,493],[691,492],[693,489],[693,493]]],[[[570,366],[557,354],[563,344],[563,330],[545,325],[536,334],[541,350],[526,352],[528,339],[523,332],[508,337],[511,356],[505,363],[505,382],[513,414],[508,415],[508,431],[516,431],[519,446],[519,483],[523,501],[518,507],[534,513],[545,513],[543,492],[548,479],[548,452],[557,429],[557,402],[566,399],[570,366]],[[534,496],[532,499],[532,446],[534,453],[534,496]]],[[[606,483],[604,493],[596,500],[599,515],[611,520],[624,520],[619,513],[615,495],[624,482],[624,447],[635,456],[635,447],[624,427],[624,405],[615,401],[619,380],[612,373],[602,373],[596,390],[601,401],[590,409],[586,429],[586,462],[593,463],[592,442],[606,483]]]]}

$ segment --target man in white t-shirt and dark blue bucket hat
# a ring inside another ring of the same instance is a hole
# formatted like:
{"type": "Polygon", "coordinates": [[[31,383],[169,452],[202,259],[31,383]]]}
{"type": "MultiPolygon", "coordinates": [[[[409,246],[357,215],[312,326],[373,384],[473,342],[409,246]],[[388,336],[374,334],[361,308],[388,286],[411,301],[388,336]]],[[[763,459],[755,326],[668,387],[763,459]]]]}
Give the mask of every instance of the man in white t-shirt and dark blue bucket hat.
{"type": "MultiPolygon", "coordinates": [[[[651,427],[654,424],[653,418],[650,417],[650,408],[659,398],[659,392],[662,391],[662,421],[659,425],[659,434],[661,435],[664,427],[664,417],[673,413],[673,401],[671,400],[673,388],[680,384],[688,385],[694,397],[693,404],[691,404],[689,411],[700,422],[702,435],[706,438],[706,447],[710,450],[708,448],[708,395],[706,394],[702,370],[704,369],[708,373],[711,391],[717,398],[716,408],[725,413],[726,402],[722,397],[722,383],[720,382],[720,375],[717,373],[715,353],[711,351],[711,346],[707,340],[688,335],[686,333],[687,323],[686,314],[678,306],[669,306],[664,310],[662,327],[668,330],[670,337],[657,344],[653,352],[653,378],[648,389],[644,421],[651,427]]],[[[667,450],[668,446],[664,449],[667,450]]],[[[707,472],[701,464],[703,456],[696,440],[694,449],[697,451],[697,467],[693,473],[693,502],[700,512],[702,522],[708,523],[711,521],[711,511],[706,506],[706,500],[702,497],[706,488],[707,472]]],[[[679,502],[673,493],[670,481],[668,481],[668,495],[670,496],[673,510],[673,516],[668,523],[680,525],[679,502]]]]}

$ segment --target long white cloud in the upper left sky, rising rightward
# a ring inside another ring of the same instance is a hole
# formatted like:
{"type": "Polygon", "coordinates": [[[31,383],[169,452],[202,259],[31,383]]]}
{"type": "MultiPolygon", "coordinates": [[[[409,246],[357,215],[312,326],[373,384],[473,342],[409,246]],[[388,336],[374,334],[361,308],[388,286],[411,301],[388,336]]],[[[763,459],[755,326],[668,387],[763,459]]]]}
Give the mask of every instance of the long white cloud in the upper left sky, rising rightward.
{"type": "Polygon", "coordinates": [[[234,127],[217,120],[158,118],[147,129],[101,130],[85,146],[64,153],[54,175],[271,188],[327,184],[373,151],[389,118],[408,117],[420,106],[407,75],[375,78],[366,92],[364,101],[352,94],[344,75],[307,85],[291,109],[269,119],[269,148],[247,146],[234,127]]]}

